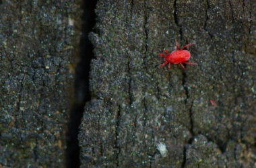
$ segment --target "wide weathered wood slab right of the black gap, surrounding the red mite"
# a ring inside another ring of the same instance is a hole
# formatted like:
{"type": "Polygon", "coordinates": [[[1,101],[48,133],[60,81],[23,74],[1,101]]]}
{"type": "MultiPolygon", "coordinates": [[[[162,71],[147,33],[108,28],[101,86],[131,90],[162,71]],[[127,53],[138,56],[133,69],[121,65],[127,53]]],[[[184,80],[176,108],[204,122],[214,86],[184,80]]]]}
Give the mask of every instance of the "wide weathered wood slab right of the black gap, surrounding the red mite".
{"type": "Polygon", "coordinates": [[[256,167],[253,4],[98,1],[82,167],[256,167]],[[159,68],[174,39],[198,65],[159,68]]]}

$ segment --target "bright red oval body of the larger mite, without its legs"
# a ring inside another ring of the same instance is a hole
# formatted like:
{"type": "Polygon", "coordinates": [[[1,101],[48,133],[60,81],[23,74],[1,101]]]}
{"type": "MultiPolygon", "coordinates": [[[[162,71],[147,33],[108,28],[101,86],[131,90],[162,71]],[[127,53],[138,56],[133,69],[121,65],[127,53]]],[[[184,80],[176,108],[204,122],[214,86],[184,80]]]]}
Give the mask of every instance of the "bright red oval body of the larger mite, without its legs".
{"type": "Polygon", "coordinates": [[[167,57],[166,60],[173,64],[179,64],[180,62],[185,62],[189,60],[190,53],[188,50],[175,50],[172,51],[167,57]]]}

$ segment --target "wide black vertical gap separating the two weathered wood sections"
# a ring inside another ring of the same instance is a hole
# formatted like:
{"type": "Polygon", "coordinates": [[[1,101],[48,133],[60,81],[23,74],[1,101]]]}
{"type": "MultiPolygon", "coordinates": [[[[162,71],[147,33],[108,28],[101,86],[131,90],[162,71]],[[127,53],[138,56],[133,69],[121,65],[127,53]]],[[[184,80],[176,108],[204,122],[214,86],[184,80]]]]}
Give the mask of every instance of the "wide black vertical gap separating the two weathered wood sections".
{"type": "MultiPolygon", "coordinates": [[[[77,135],[84,112],[86,101],[90,101],[89,71],[90,60],[93,57],[93,46],[88,39],[95,23],[94,9],[97,1],[84,0],[82,8],[82,36],[79,44],[79,61],[75,69],[75,99],[70,112],[67,132],[66,167],[79,167],[79,144],[77,135]]],[[[79,24],[79,23],[77,23],[79,24]]]]}

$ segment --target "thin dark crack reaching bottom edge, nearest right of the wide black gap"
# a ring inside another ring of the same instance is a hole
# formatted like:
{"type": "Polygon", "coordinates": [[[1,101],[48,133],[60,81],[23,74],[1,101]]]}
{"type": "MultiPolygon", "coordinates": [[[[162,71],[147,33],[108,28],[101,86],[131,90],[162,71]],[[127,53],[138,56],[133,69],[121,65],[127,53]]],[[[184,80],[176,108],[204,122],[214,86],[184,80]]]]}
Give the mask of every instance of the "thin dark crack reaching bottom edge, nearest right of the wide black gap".
{"type": "Polygon", "coordinates": [[[119,167],[119,153],[121,151],[121,148],[119,146],[119,125],[120,125],[120,120],[121,120],[121,107],[119,106],[119,110],[117,111],[117,116],[116,116],[116,126],[115,126],[115,149],[117,149],[116,153],[116,163],[117,167],[119,167]]]}

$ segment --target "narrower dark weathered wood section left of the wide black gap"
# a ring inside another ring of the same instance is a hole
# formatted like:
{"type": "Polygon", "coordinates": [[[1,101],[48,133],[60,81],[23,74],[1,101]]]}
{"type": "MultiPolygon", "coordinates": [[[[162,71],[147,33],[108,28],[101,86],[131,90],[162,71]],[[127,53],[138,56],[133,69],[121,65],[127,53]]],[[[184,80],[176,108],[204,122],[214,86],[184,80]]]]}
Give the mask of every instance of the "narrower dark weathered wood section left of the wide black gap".
{"type": "Polygon", "coordinates": [[[0,167],[65,163],[77,2],[0,1],[0,167]]]}

